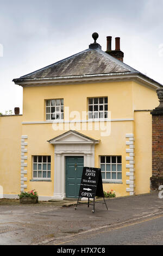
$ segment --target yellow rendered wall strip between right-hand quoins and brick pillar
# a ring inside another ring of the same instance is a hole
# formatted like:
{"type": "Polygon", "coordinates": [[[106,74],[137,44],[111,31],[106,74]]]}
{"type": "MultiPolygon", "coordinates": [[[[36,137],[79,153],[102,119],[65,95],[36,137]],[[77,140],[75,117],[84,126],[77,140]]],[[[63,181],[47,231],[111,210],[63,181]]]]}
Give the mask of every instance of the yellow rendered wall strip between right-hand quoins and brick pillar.
{"type": "Polygon", "coordinates": [[[152,176],[152,115],[135,112],[135,193],[150,192],[152,176]]]}

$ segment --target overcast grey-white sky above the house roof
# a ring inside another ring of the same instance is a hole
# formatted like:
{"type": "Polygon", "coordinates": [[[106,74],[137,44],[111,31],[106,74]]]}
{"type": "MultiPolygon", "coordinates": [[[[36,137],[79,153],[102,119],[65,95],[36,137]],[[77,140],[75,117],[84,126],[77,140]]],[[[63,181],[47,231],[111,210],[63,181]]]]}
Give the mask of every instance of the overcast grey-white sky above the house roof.
{"type": "Polygon", "coordinates": [[[162,10],[162,0],[0,0],[0,112],[22,113],[13,78],[87,49],[93,32],[103,51],[120,36],[124,63],[163,84],[162,10]]]}

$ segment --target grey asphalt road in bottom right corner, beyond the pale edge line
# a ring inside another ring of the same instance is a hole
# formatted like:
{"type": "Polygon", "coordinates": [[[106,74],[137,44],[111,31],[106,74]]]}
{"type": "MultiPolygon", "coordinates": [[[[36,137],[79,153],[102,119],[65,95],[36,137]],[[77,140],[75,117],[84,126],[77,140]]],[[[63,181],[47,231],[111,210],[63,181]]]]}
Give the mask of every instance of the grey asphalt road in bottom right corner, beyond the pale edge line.
{"type": "Polygon", "coordinates": [[[121,225],[121,227],[97,230],[83,234],[58,245],[163,245],[163,216],[121,225]]]}

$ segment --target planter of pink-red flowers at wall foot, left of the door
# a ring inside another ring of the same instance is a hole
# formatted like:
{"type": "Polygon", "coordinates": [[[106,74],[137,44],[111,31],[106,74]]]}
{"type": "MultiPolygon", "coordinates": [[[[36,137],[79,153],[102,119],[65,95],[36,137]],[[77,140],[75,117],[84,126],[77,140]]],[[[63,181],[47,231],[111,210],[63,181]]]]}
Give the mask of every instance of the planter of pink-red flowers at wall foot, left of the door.
{"type": "Polygon", "coordinates": [[[35,190],[21,192],[18,196],[20,198],[20,204],[36,204],[39,202],[38,195],[35,190]]]}

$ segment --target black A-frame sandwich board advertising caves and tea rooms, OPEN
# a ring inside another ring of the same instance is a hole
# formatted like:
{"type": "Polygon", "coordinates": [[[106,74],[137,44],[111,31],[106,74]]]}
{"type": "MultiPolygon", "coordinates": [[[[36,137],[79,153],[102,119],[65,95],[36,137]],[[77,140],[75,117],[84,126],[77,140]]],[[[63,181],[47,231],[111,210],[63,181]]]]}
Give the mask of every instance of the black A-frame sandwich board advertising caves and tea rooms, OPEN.
{"type": "MultiPolygon", "coordinates": [[[[103,197],[104,199],[104,192],[103,192],[103,184],[102,184],[102,175],[101,175],[101,169],[100,168],[92,168],[92,167],[84,167],[83,168],[83,174],[82,174],[82,180],[80,182],[80,190],[79,190],[79,197],[78,197],[78,202],[80,197],[85,197],[88,198],[88,203],[87,206],[93,205],[93,210],[92,212],[95,212],[95,197],[103,197]],[[90,204],[90,198],[93,199],[93,204],[90,204]]],[[[96,202],[96,203],[101,203],[105,204],[105,199],[104,203],[103,202],[96,202]]],[[[84,203],[85,204],[85,203],[84,203]]],[[[77,210],[77,205],[74,208],[77,210]]],[[[106,209],[108,210],[108,207],[106,205],[106,209]]]]}

